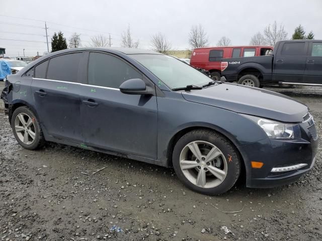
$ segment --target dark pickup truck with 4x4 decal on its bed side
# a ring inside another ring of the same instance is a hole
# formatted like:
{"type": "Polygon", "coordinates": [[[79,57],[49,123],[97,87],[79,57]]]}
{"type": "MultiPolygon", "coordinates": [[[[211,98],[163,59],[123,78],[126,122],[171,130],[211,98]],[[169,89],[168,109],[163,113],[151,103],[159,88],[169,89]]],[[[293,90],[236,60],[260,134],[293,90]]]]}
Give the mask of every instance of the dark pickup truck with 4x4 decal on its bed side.
{"type": "Polygon", "coordinates": [[[322,40],[279,41],[272,55],[225,58],[221,66],[226,80],[238,84],[322,86],[322,40]]]}

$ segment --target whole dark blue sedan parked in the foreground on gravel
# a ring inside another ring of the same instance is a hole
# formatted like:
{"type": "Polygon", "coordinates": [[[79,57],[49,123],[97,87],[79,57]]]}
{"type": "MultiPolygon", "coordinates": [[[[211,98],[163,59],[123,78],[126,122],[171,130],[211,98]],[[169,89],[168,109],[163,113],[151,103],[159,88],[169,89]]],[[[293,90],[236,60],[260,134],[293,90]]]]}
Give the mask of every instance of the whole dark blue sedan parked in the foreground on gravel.
{"type": "Polygon", "coordinates": [[[174,167],[192,190],[226,192],[296,180],[314,164],[306,105],[214,81],[173,57],[81,48],[46,55],[9,75],[2,93],[20,145],[62,143],[174,167]]]}

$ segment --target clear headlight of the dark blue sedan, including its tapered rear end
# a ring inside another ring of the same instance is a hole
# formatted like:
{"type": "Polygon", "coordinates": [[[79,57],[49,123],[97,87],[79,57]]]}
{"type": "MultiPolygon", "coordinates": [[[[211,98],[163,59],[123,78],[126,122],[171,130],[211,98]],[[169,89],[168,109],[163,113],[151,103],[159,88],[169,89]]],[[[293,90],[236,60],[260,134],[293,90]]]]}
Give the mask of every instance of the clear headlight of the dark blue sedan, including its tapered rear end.
{"type": "Polygon", "coordinates": [[[263,129],[269,139],[290,140],[294,138],[300,138],[301,136],[300,129],[297,124],[281,123],[253,115],[243,115],[257,123],[263,129]]]}

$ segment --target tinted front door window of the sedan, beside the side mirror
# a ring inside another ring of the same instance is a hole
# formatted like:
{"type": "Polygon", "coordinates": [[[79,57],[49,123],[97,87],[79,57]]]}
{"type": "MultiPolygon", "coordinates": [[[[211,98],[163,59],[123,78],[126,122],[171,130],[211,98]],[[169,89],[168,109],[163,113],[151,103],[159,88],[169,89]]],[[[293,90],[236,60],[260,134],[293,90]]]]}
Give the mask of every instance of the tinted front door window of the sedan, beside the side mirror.
{"type": "Polygon", "coordinates": [[[125,80],[142,77],[142,74],[117,57],[90,53],[89,84],[118,89],[125,80]]]}

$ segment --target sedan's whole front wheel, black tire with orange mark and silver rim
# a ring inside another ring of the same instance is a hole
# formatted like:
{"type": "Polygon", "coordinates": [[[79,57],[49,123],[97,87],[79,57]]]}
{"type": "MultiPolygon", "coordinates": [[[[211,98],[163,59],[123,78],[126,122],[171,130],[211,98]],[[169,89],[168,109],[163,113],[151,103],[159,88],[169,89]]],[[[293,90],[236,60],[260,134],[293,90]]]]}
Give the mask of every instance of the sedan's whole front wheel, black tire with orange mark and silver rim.
{"type": "Polygon", "coordinates": [[[225,137],[211,130],[194,130],[182,136],[175,145],[172,161],[178,178],[191,190],[206,195],[227,192],[240,174],[240,157],[236,148],[225,137]],[[196,146],[202,160],[196,157],[196,146]],[[213,156],[209,150],[215,150],[213,156]],[[217,157],[211,160],[208,156],[217,157]]]}

